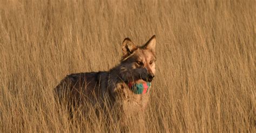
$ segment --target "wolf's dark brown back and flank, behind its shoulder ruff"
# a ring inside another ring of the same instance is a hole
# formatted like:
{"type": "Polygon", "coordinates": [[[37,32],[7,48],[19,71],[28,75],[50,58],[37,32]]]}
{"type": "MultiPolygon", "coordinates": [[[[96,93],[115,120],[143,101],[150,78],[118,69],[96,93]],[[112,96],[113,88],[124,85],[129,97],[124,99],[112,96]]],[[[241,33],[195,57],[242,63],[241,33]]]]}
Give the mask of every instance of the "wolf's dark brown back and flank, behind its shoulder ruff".
{"type": "Polygon", "coordinates": [[[73,73],[66,76],[55,87],[56,100],[92,100],[99,97],[99,82],[106,72],[73,73]],[[86,96],[86,97],[85,97],[86,96]],[[96,96],[96,97],[95,97],[96,96]]]}

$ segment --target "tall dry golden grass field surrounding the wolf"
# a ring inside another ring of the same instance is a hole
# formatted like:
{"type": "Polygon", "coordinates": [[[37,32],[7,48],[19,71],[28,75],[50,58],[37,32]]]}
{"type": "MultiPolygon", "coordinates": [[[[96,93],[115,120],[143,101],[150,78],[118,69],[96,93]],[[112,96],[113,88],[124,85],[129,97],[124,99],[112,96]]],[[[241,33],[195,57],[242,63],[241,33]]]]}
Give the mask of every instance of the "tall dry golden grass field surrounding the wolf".
{"type": "MultiPolygon", "coordinates": [[[[0,1],[0,132],[104,132],[53,97],[69,73],[108,70],[157,36],[146,123],[132,132],[255,132],[255,2],[0,1]]],[[[111,132],[119,131],[112,124],[111,132]]]]}

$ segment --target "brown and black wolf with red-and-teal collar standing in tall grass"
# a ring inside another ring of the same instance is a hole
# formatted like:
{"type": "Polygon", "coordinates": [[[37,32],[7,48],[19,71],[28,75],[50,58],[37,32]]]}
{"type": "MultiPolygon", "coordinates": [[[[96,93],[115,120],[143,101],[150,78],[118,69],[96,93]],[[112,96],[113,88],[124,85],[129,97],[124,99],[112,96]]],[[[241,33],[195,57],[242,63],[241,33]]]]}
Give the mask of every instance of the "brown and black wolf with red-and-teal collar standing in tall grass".
{"type": "Polygon", "coordinates": [[[106,114],[107,110],[109,114],[112,108],[116,108],[120,114],[118,120],[125,124],[131,115],[143,114],[149,102],[149,88],[156,73],[155,48],[156,35],[143,46],[134,45],[131,39],[125,38],[123,56],[116,67],[109,71],[66,76],[55,88],[58,101],[65,99],[71,105],[79,106],[98,104],[106,114]]]}

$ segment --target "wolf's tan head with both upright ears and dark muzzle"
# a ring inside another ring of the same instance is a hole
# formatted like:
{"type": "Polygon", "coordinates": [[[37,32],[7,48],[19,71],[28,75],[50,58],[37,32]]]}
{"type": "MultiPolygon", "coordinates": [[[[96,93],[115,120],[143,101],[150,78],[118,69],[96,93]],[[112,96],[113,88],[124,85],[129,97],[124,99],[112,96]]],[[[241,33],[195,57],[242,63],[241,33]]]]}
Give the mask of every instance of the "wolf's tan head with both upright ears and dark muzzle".
{"type": "Polygon", "coordinates": [[[131,39],[122,43],[123,57],[120,75],[127,82],[143,79],[152,82],[156,72],[156,36],[153,35],[143,46],[136,46],[131,39]]]}

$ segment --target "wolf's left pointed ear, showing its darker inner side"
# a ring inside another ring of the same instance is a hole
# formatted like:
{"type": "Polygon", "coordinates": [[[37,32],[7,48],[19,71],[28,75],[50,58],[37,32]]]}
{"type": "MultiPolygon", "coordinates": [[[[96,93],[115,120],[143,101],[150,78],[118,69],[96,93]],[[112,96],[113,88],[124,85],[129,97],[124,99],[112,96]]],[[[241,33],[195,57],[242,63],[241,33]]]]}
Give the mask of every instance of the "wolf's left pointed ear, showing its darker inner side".
{"type": "Polygon", "coordinates": [[[129,56],[136,49],[138,49],[138,47],[134,45],[130,38],[124,39],[122,43],[123,57],[129,56]]]}

